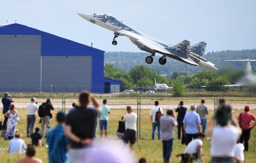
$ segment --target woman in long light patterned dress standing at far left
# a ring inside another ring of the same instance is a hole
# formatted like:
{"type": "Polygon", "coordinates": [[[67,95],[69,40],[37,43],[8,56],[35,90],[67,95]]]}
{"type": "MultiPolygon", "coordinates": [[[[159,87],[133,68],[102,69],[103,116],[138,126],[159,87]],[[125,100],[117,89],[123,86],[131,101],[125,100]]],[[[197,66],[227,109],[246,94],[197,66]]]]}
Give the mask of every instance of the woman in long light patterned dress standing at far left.
{"type": "Polygon", "coordinates": [[[5,113],[5,117],[9,118],[7,130],[6,130],[6,134],[5,134],[5,140],[7,140],[7,138],[9,140],[13,139],[14,131],[17,126],[17,121],[19,118],[18,112],[15,111],[14,104],[11,104],[9,109],[10,110],[5,113]]]}

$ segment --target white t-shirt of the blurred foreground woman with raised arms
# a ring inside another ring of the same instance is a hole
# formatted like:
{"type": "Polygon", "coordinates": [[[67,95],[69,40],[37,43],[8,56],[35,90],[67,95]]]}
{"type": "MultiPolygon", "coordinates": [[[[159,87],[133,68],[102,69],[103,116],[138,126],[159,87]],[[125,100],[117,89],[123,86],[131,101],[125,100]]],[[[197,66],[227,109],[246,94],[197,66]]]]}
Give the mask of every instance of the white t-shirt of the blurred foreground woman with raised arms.
{"type": "Polygon", "coordinates": [[[217,126],[213,128],[211,138],[211,156],[234,157],[239,131],[235,126],[217,126]]]}

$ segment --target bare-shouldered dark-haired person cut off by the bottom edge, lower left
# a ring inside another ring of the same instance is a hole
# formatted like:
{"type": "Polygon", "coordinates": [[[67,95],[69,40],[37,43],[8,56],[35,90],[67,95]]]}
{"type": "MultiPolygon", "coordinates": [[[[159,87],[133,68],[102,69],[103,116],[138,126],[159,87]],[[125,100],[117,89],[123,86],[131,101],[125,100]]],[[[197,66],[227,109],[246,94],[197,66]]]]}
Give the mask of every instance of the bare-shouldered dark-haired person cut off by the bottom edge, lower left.
{"type": "Polygon", "coordinates": [[[26,156],[17,161],[17,163],[43,163],[40,158],[36,158],[35,156],[35,148],[34,145],[30,145],[27,147],[26,156]]]}

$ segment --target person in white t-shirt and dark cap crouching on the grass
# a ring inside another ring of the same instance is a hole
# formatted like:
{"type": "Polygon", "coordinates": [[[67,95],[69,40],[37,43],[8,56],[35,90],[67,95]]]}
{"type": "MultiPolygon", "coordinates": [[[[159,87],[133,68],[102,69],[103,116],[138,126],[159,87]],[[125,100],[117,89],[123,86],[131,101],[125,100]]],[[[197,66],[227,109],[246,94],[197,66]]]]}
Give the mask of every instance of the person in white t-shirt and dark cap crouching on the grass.
{"type": "Polygon", "coordinates": [[[192,140],[186,147],[184,154],[192,155],[197,162],[202,162],[202,142],[205,135],[202,133],[197,134],[197,138],[192,140]]]}

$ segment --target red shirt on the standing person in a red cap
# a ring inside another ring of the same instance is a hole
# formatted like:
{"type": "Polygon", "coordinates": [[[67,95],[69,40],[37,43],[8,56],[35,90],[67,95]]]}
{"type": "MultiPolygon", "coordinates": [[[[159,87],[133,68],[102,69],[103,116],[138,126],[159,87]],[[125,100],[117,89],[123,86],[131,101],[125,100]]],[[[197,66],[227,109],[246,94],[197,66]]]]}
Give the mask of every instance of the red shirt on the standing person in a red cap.
{"type": "Polygon", "coordinates": [[[241,117],[240,125],[241,125],[242,130],[250,129],[251,128],[251,121],[256,119],[256,117],[253,114],[249,113],[249,112],[241,113],[238,116],[238,120],[240,120],[240,117],[241,117]]]}

